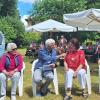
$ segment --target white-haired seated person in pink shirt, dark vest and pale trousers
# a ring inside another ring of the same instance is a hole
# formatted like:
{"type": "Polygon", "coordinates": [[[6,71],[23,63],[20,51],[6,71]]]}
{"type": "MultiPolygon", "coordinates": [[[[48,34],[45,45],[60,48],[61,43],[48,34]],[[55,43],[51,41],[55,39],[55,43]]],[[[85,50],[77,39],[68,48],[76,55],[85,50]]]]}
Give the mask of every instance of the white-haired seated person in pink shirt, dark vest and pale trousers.
{"type": "Polygon", "coordinates": [[[16,100],[16,88],[20,78],[20,72],[23,66],[22,56],[17,52],[15,43],[8,43],[7,52],[2,56],[0,61],[0,100],[5,100],[6,80],[11,78],[11,100],[16,100]]]}

